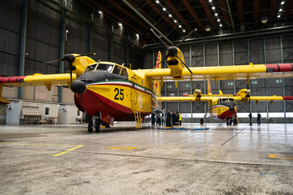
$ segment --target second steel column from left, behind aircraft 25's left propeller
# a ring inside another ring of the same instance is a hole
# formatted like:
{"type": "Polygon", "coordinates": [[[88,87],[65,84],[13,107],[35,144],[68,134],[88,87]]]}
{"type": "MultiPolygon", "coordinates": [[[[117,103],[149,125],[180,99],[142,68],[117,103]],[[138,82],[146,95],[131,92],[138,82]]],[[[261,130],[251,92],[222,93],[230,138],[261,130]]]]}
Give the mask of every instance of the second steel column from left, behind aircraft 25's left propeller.
{"type": "MultiPolygon", "coordinates": [[[[62,9],[61,15],[61,44],[60,44],[60,58],[63,58],[65,52],[65,26],[66,26],[66,10],[62,9]]],[[[59,73],[64,72],[64,61],[60,61],[59,73]]],[[[63,86],[58,87],[58,102],[62,102],[63,99],[63,86]]]]}

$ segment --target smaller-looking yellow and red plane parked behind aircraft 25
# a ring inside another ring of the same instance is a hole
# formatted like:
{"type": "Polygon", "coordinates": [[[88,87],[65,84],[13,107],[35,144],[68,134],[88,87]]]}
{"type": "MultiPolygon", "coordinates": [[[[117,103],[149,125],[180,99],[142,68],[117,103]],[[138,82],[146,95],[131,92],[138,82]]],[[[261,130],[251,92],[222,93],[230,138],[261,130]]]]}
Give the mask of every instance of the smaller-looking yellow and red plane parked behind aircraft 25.
{"type": "Polygon", "coordinates": [[[207,82],[208,94],[202,94],[200,89],[195,89],[192,95],[183,95],[180,97],[156,97],[157,100],[161,101],[195,101],[195,102],[208,102],[208,110],[210,113],[209,117],[215,120],[226,122],[227,125],[231,125],[232,122],[237,124],[237,102],[255,101],[286,101],[293,100],[293,96],[250,96],[250,89],[240,89],[237,94],[223,94],[219,90],[219,94],[212,94],[210,89],[210,83],[207,82]]]}

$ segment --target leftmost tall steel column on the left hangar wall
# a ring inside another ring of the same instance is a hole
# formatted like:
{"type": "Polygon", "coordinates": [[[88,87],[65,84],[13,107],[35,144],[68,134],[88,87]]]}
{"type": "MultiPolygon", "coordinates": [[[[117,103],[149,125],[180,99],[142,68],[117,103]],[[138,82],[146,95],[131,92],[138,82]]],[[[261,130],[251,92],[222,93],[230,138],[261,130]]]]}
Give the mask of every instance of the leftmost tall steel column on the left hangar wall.
{"type": "MultiPolygon", "coordinates": [[[[29,0],[24,0],[23,4],[23,23],[21,35],[21,53],[20,53],[20,69],[19,76],[25,75],[25,60],[26,60],[26,43],[27,43],[27,24],[28,24],[28,7],[29,0]]],[[[18,88],[18,98],[23,98],[23,87],[18,88]]],[[[35,94],[34,94],[35,95],[35,94]]]]}

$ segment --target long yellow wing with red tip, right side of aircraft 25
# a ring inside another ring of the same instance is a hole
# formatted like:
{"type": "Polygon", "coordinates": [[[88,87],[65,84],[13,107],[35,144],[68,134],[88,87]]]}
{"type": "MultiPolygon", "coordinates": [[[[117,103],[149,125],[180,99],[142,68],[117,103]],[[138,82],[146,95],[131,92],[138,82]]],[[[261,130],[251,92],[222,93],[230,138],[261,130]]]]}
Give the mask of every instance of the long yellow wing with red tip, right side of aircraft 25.
{"type": "MultiPolygon", "coordinates": [[[[205,66],[190,67],[192,75],[187,68],[182,68],[182,80],[232,80],[232,79],[255,79],[255,78],[279,78],[292,77],[293,64],[252,64],[249,65],[223,65],[223,66],[205,66]]],[[[171,70],[169,68],[162,69],[146,69],[146,75],[161,79],[164,81],[173,81],[171,70]]],[[[178,78],[177,80],[181,80],[178,78]]]]}

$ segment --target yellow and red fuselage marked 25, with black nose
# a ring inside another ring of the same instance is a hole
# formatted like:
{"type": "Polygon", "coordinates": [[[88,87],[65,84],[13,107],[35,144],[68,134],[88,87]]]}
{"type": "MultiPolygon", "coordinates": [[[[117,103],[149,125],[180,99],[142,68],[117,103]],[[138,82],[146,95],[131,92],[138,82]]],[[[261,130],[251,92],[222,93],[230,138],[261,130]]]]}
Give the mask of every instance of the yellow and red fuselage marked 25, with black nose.
{"type": "Polygon", "coordinates": [[[135,104],[141,117],[149,115],[152,82],[139,72],[111,62],[89,65],[71,85],[76,105],[91,116],[101,112],[115,121],[134,120],[135,104]]]}

